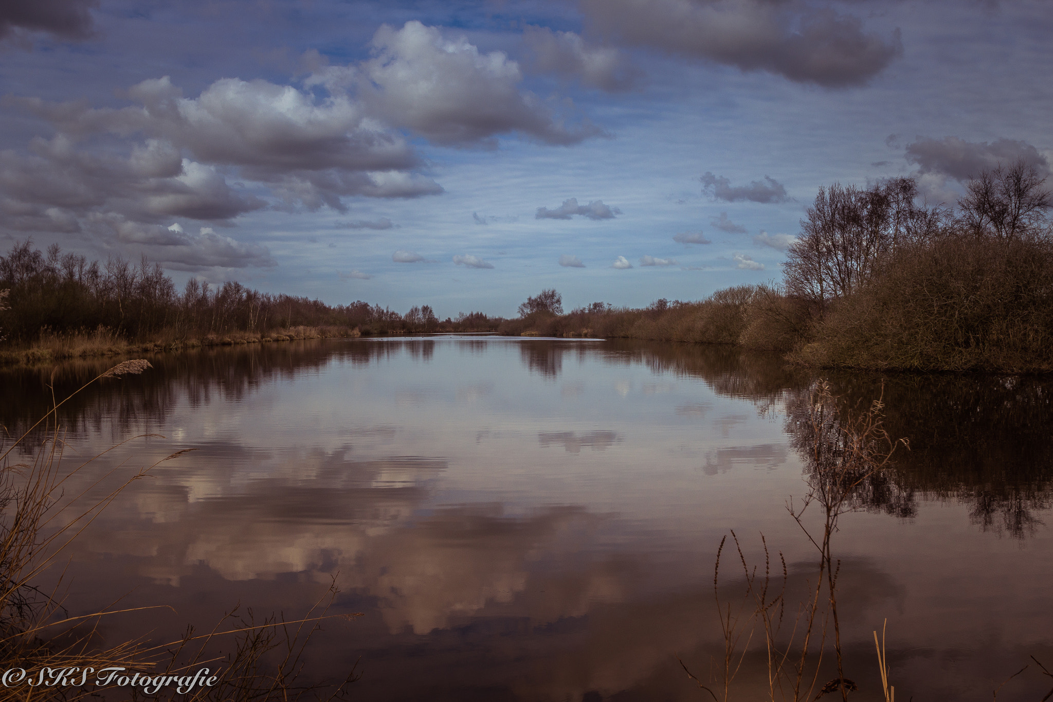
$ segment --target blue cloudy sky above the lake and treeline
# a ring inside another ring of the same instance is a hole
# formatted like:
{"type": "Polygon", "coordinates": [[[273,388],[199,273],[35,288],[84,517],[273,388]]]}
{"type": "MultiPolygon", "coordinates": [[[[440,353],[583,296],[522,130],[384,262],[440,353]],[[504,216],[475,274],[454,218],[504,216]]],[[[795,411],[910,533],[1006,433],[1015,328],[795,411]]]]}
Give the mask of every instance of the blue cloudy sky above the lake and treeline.
{"type": "Polygon", "coordinates": [[[1051,0],[7,0],[0,250],[513,317],[778,282],[817,189],[1053,164],[1051,0]]]}

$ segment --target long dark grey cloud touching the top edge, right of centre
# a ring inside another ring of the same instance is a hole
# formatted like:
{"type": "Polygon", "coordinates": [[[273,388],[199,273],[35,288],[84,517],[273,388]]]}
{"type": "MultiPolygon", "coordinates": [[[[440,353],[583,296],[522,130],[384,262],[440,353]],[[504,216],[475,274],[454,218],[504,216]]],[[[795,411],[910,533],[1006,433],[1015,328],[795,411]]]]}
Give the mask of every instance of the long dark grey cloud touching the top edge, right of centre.
{"type": "Polygon", "coordinates": [[[857,17],[798,3],[582,0],[581,8],[612,41],[827,87],[866,83],[902,53],[898,29],[881,37],[857,17]]]}

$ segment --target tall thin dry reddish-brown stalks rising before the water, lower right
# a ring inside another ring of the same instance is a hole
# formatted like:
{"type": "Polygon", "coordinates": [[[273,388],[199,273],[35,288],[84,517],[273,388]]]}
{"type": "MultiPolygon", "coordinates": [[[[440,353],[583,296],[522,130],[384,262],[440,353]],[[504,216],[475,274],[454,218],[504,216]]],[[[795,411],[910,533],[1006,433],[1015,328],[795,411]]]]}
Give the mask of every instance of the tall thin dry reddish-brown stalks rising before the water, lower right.
{"type": "MultiPolygon", "coordinates": [[[[732,682],[757,627],[764,640],[768,697],[771,702],[812,702],[829,694],[838,694],[845,701],[850,693],[857,689],[845,669],[837,607],[841,563],[834,556],[833,536],[840,516],[852,508],[855,496],[865,489],[869,480],[889,466],[893,453],[900,445],[906,447],[907,442],[893,441],[882,428],[883,404],[880,398],[866,408],[843,404],[842,399],[831,394],[826,382],[818,382],[804,402],[791,410],[796,448],[807,462],[809,492],[801,502],[788,503],[787,509],[815,547],[818,563],[814,578],[806,583],[807,595],[798,604],[789,630],[784,625],[789,574],[782,554],[778,555],[782,566],[779,586],[777,576],[773,580],[772,557],[763,535],[764,569],[761,574],[757,566],[749,565],[738,537],[732,533],[744,577],[742,599],[732,606],[729,602],[721,602],[720,598],[720,560],[726,539],[720,542],[713,582],[724,641],[719,680],[724,701],[732,699],[732,682]],[[821,531],[806,523],[806,514],[816,509],[822,517],[821,531]],[[740,647],[743,637],[746,643],[740,647]],[[831,654],[836,677],[820,687],[823,659],[831,654]]],[[[719,699],[682,661],[681,665],[700,687],[710,691],[714,699],[719,699]]],[[[888,698],[891,690],[887,684],[888,666],[883,648],[878,649],[878,665],[888,698]]],[[[888,699],[891,702],[891,698],[888,699]]]]}

